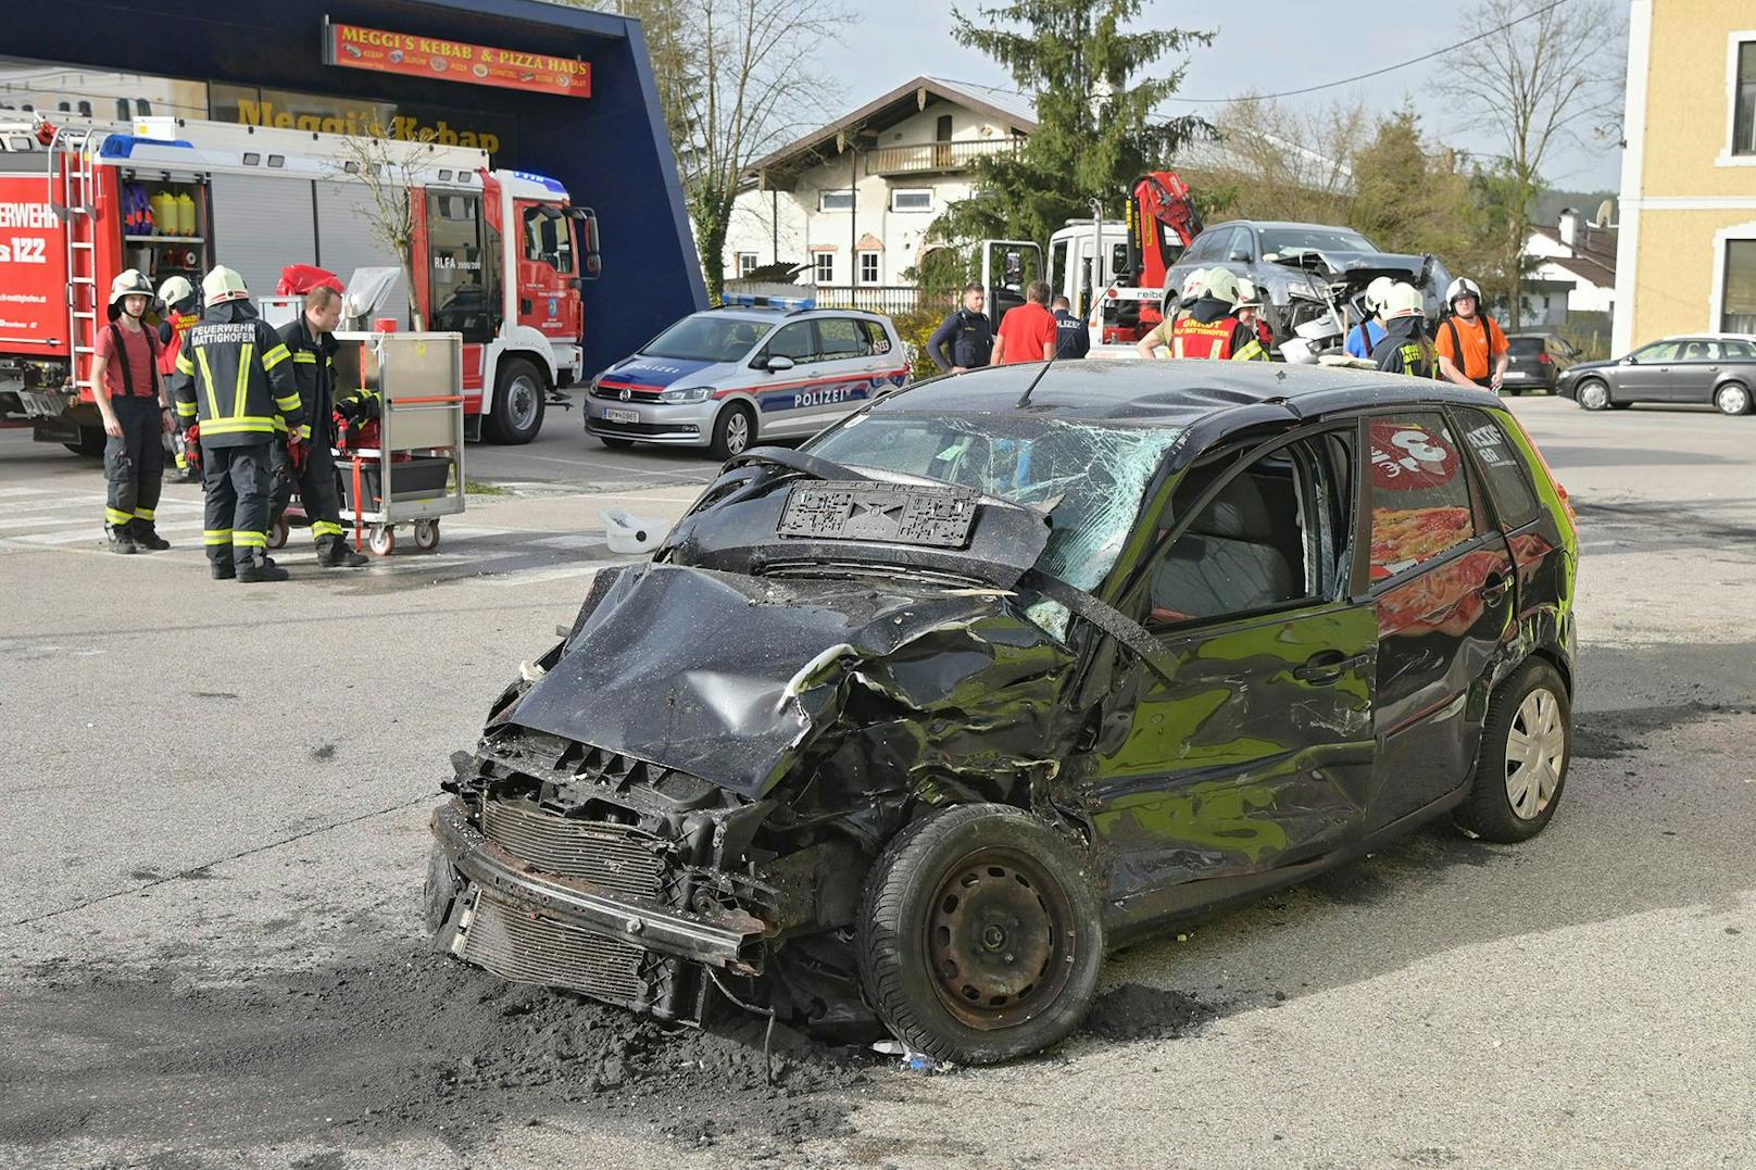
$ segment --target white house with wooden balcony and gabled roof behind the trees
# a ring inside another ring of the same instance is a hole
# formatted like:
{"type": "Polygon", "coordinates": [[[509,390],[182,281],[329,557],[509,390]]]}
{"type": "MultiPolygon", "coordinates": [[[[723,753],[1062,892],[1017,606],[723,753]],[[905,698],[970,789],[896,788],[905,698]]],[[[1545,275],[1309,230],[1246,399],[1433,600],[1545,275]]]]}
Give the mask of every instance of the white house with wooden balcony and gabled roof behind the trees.
{"type": "Polygon", "coordinates": [[[799,283],[860,304],[862,288],[906,286],[927,227],[973,191],[975,162],[1017,151],[1034,130],[1026,97],[915,77],[752,165],[725,234],[725,276],[810,265],[799,283]]]}

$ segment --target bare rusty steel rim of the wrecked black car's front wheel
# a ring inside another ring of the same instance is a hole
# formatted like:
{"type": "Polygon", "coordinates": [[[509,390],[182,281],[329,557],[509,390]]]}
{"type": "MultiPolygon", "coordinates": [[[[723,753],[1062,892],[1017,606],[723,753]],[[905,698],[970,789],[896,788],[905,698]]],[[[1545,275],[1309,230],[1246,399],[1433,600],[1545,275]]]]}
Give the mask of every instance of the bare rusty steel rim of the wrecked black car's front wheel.
{"type": "Polygon", "coordinates": [[[934,889],[924,950],[946,1012],[980,1031],[1011,1028],[1073,975],[1073,901],[1034,857],[978,849],[934,889]]]}

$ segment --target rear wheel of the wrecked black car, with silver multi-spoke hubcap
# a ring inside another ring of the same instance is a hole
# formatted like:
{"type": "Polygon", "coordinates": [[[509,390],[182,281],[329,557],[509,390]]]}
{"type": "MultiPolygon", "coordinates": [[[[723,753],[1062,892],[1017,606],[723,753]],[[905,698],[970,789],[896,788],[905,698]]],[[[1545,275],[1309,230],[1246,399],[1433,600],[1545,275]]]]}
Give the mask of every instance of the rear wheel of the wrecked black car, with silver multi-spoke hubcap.
{"type": "Polygon", "coordinates": [[[1573,706],[1561,675],[1542,659],[1512,671],[1487,703],[1461,829],[1512,845],[1544,831],[1573,762],[1573,706]]]}

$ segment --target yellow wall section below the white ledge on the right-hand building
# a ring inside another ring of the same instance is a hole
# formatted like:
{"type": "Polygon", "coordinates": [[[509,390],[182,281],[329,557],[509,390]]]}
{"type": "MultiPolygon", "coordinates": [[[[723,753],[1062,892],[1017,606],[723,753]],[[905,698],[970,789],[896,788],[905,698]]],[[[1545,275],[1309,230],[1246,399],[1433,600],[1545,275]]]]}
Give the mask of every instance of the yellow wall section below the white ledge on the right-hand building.
{"type": "MultiPolygon", "coordinates": [[[[1640,213],[1640,256],[1635,264],[1633,344],[1666,334],[1717,330],[1712,320],[1714,234],[1756,223],[1756,209],[1640,213]]],[[[1616,306],[1623,311],[1623,306],[1616,306]]]]}

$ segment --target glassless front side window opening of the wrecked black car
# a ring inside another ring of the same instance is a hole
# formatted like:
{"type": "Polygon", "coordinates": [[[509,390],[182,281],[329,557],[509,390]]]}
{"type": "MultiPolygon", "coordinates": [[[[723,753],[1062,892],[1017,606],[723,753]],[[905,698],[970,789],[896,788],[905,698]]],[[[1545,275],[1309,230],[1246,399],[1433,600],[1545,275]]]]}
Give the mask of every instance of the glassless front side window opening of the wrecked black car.
{"type": "Polygon", "coordinates": [[[1162,518],[1166,529],[1224,483],[1154,564],[1148,627],[1340,596],[1354,527],[1352,466],[1352,429],[1338,429],[1268,451],[1241,469],[1236,459],[1191,467],[1162,518]]]}

